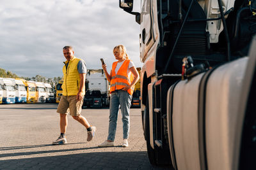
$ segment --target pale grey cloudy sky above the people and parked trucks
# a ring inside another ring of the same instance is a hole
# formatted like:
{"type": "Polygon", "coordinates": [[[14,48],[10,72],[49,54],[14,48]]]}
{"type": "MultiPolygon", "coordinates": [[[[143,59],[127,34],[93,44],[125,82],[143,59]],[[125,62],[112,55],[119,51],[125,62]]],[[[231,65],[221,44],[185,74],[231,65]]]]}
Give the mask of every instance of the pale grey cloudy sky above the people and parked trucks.
{"type": "MultiPolygon", "coordinates": [[[[62,47],[72,45],[88,69],[108,70],[112,50],[125,45],[134,64],[140,62],[140,25],[119,8],[118,0],[1,0],[0,68],[18,76],[62,76],[62,47]]],[[[136,4],[134,10],[140,8],[136,4]]]]}

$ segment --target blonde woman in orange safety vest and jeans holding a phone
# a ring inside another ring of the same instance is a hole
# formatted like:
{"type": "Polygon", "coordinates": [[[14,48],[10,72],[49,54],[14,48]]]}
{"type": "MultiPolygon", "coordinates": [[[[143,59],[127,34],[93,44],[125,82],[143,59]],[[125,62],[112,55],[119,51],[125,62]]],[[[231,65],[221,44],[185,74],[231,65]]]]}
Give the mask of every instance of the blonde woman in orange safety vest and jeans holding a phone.
{"type": "Polygon", "coordinates": [[[139,80],[139,73],[132,60],[126,53],[124,45],[115,46],[113,49],[116,62],[113,62],[112,69],[108,73],[106,64],[102,64],[106,78],[110,82],[110,104],[109,104],[109,129],[108,139],[101,143],[100,147],[114,146],[116,134],[116,122],[118,117],[119,106],[122,112],[123,122],[123,147],[128,146],[128,137],[130,129],[130,107],[132,93],[135,83],[139,80]]]}

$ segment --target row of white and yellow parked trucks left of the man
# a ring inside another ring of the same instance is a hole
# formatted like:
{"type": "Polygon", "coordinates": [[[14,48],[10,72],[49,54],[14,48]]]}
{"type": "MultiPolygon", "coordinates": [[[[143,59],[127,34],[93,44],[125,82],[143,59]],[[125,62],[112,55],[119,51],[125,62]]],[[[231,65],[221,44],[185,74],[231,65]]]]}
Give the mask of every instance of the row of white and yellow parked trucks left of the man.
{"type": "Polygon", "coordinates": [[[54,102],[54,92],[49,83],[20,78],[0,78],[0,103],[46,102],[54,102]]]}

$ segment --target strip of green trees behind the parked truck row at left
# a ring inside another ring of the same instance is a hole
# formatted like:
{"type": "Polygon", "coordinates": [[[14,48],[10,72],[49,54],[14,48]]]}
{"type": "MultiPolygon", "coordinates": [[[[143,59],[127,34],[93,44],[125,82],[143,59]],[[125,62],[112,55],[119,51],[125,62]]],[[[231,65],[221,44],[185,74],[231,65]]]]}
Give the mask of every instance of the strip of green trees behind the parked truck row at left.
{"type": "Polygon", "coordinates": [[[36,75],[35,77],[23,77],[17,76],[17,74],[12,73],[11,71],[6,71],[5,69],[0,68],[0,77],[3,78],[22,78],[24,80],[31,80],[31,81],[40,81],[44,83],[49,83],[52,87],[55,87],[56,84],[61,80],[61,77],[54,77],[54,78],[46,78],[45,76],[36,75]]]}

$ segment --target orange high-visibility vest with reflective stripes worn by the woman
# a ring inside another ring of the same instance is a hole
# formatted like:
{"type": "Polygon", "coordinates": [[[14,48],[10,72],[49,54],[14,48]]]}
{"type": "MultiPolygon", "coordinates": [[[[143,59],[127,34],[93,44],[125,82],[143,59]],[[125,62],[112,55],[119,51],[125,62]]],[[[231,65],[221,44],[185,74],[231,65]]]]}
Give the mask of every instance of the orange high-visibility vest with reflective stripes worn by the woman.
{"type": "MultiPolygon", "coordinates": [[[[120,90],[125,86],[131,85],[131,82],[133,81],[134,77],[133,74],[131,74],[130,77],[128,77],[127,69],[129,66],[130,60],[124,60],[124,63],[120,67],[120,69],[115,72],[117,61],[113,62],[112,64],[112,72],[111,72],[111,80],[110,80],[110,93],[115,90],[120,90]]],[[[127,92],[132,96],[134,90],[134,85],[127,90],[127,92]]]]}

